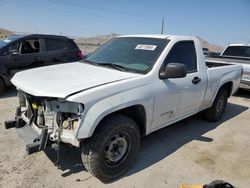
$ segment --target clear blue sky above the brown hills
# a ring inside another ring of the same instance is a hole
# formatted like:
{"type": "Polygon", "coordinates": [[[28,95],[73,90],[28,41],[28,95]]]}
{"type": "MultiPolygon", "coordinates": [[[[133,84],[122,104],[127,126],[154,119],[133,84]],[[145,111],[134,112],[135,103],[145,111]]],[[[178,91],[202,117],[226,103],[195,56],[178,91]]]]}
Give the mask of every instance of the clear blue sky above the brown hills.
{"type": "Polygon", "coordinates": [[[165,34],[250,42],[250,0],[0,0],[0,27],[27,33],[158,34],[162,17],[165,34]]]}

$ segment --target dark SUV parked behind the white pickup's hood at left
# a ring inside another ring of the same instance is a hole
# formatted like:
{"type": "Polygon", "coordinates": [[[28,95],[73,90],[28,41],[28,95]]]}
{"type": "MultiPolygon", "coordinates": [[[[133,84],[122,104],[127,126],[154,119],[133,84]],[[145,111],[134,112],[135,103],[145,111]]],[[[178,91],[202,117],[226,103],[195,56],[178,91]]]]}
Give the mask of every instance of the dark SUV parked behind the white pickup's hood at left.
{"type": "Polygon", "coordinates": [[[0,93],[18,71],[81,59],[75,42],[64,36],[32,34],[0,39],[0,93]]]}

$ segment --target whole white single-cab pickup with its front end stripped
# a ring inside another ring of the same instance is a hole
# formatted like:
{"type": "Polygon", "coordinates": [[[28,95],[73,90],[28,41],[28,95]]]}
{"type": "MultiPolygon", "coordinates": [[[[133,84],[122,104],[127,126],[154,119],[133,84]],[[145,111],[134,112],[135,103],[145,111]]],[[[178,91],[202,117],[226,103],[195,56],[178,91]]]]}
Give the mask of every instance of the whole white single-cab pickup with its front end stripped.
{"type": "Polygon", "coordinates": [[[134,162],[140,138],[203,111],[221,118],[241,65],[206,63],[198,39],[114,38],[80,62],[17,73],[15,127],[28,154],[52,142],[81,148],[86,169],[106,182],[134,162]]]}

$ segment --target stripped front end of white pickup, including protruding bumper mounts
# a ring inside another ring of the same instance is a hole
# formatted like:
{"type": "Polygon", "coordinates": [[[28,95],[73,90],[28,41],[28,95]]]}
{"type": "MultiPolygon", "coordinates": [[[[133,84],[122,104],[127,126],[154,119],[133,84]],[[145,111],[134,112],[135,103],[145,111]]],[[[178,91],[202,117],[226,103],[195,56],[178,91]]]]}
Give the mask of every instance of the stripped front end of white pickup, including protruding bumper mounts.
{"type": "Polygon", "coordinates": [[[76,131],[82,119],[83,104],[59,98],[35,97],[21,90],[18,98],[20,105],[15,119],[6,121],[5,128],[16,128],[28,154],[44,150],[48,141],[79,146],[76,131]]]}

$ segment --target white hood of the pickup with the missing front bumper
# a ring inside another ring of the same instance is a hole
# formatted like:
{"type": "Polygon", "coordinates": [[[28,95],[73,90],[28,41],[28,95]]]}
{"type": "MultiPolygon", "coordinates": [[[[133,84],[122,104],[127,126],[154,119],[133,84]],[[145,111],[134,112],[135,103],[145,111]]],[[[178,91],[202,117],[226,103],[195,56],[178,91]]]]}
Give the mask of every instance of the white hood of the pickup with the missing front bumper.
{"type": "Polygon", "coordinates": [[[79,91],[136,76],[139,74],[75,62],[22,71],[15,74],[11,82],[33,96],[66,98],[79,91]]]}

